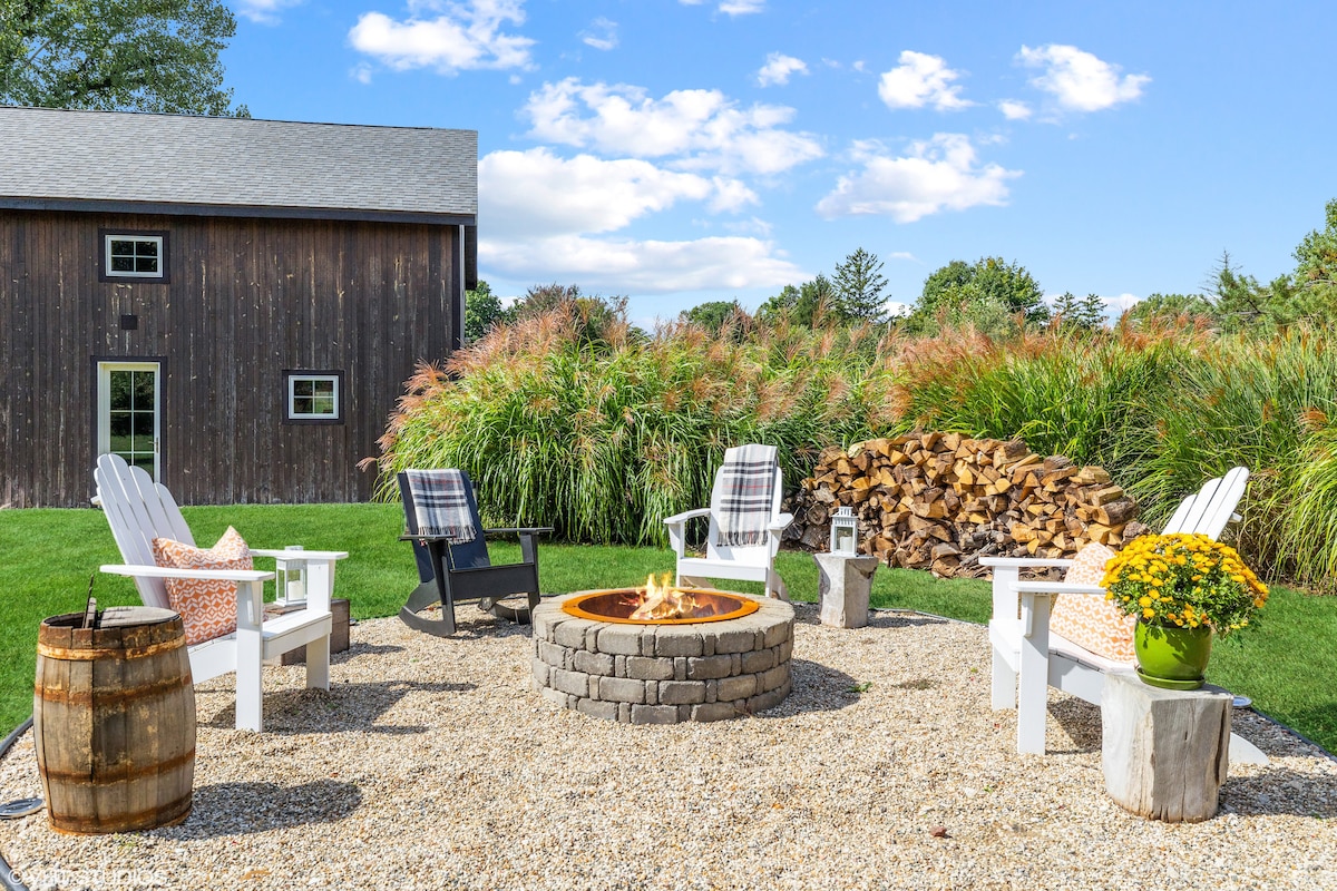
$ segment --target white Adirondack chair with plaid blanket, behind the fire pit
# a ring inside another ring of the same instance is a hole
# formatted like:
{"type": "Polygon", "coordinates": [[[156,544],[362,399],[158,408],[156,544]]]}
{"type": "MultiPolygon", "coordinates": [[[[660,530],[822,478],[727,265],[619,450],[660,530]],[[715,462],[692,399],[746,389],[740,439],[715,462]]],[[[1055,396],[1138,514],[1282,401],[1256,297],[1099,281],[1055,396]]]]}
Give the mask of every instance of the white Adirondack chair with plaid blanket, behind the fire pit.
{"type": "Polygon", "coordinates": [[[719,533],[721,504],[725,497],[722,482],[723,469],[715,473],[715,485],[710,492],[710,506],[697,508],[674,514],[664,520],[668,526],[668,540],[678,557],[678,582],[694,588],[710,588],[711,578],[735,578],[742,581],[761,581],[766,585],[767,597],[789,600],[789,588],[785,580],[775,572],[775,552],[779,550],[779,534],[794,521],[794,516],[779,512],[779,498],[782,477],[779,466],[775,466],[774,481],[771,482],[770,522],[766,529],[766,541],[759,545],[746,548],[730,548],[717,544],[719,533]],[[687,521],[694,517],[709,517],[710,528],[706,532],[706,556],[687,556],[687,521]]]}

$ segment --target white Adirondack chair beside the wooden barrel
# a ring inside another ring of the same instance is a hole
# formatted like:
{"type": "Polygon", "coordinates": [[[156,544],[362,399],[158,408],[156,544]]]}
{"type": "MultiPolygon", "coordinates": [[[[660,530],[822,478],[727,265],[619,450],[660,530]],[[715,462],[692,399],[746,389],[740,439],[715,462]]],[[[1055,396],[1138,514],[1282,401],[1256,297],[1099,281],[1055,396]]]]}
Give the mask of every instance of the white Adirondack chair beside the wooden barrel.
{"type": "MultiPolygon", "coordinates": [[[[94,478],[98,482],[94,504],[107,516],[126,561],[126,565],[102,566],[102,572],[134,578],[146,606],[170,609],[167,578],[237,582],[237,631],[190,648],[190,673],[195,683],[237,672],[237,729],[262,729],[261,665],[266,659],[306,647],[306,685],[330,688],[330,592],[334,589],[334,561],[348,557],[346,552],[302,550],[308,565],[306,608],[265,620],[263,582],[274,578],[274,573],[154,565],[154,538],[195,544],[171,493],[115,454],[98,458],[94,478]]],[[[251,554],[290,558],[293,552],[253,549],[251,554]]]]}

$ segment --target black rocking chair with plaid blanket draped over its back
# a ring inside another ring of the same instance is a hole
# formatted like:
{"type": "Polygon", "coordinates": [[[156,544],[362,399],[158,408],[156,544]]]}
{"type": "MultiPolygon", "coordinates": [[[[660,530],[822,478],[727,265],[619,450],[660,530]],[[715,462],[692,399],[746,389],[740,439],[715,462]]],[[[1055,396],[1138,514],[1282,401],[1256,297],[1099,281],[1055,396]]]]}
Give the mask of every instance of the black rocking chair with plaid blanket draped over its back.
{"type": "Polygon", "coordinates": [[[413,542],[421,584],[409,594],[400,609],[400,618],[409,628],[447,637],[455,633],[455,604],[476,600],[479,609],[499,618],[527,624],[539,605],[539,548],[535,536],[552,532],[551,526],[483,529],[479,505],[468,474],[464,477],[465,498],[473,518],[476,536],[465,544],[451,544],[445,536],[418,534],[417,514],[408,476],[398,474],[400,494],[404,498],[404,518],[408,533],[400,541],[413,542]],[[488,560],[485,536],[513,534],[520,537],[521,561],[493,566],[488,560]],[[424,618],[418,612],[432,604],[441,604],[440,618],[424,618]]]}

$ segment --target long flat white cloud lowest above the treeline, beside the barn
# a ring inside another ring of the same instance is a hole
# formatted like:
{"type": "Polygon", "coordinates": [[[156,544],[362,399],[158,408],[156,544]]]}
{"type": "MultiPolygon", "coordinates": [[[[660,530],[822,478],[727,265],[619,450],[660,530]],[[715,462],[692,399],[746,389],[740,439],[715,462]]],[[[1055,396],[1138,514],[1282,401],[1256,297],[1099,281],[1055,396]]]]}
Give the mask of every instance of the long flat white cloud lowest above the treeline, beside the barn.
{"type": "Polygon", "coordinates": [[[770,242],[721,236],[686,242],[556,235],[523,242],[479,239],[479,263],[520,281],[579,281],[582,289],[667,294],[777,287],[808,275],[770,242]]]}

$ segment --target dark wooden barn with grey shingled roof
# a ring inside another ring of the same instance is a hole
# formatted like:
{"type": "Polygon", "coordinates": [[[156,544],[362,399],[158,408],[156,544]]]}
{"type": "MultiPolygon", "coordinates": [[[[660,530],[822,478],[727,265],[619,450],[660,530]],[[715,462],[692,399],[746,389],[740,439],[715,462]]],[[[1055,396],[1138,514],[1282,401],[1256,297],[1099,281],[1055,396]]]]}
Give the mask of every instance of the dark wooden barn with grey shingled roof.
{"type": "Polygon", "coordinates": [[[475,131],[0,108],[0,505],[366,500],[476,224],[475,131]]]}

